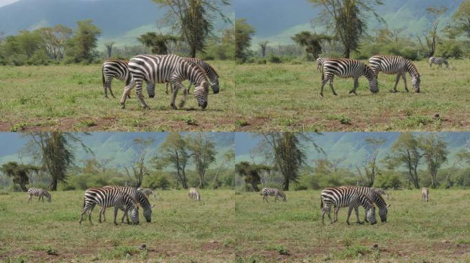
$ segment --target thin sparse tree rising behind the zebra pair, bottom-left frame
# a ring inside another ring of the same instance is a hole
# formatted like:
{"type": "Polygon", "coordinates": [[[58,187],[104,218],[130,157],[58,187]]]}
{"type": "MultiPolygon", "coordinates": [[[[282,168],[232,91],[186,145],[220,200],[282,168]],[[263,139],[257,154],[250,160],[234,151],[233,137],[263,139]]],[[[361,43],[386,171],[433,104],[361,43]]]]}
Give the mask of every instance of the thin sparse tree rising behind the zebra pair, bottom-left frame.
{"type": "Polygon", "coordinates": [[[135,158],[134,163],[130,166],[132,170],[132,174],[129,172],[129,168],[124,166],[124,170],[126,170],[127,176],[131,181],[135,181],[135,188],[138,188],[142,185],[142,180],[144,179],[144,175],[148,175],[148,170],[144,164],[146,160],[146,156],[148,154],[148,147],[153,144],[155,141],[153,138],[135,138],[134,140],[135,145],[137,145],[137,158],[135,158]]]}

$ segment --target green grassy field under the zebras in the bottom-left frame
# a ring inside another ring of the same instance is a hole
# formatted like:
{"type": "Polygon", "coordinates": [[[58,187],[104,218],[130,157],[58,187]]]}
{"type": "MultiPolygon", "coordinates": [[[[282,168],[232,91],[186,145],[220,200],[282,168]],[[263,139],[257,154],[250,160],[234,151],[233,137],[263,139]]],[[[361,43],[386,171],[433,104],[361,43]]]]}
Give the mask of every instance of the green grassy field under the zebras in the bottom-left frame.
{"type": "Polygon", "coordinates": [[[151,223],[141,212],[140,225],[117,226],[113,209],[98,223],[98,208],[93,225],[78,224],[83,191],[52,192],[52,203],[0,195],[0,262],[233,262],[234,192],[200,192],[200,203],[183,190],[157,192],[151,223]]]}

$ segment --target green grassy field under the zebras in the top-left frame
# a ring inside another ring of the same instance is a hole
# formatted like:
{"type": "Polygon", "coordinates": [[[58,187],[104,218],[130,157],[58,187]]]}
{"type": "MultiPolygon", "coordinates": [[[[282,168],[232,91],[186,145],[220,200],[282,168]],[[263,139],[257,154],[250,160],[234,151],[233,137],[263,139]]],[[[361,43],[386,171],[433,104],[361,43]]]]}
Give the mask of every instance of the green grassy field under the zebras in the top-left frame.
{"type": "MultiPolygon", "coordinates": [[[[192,92],[183,110],[171,110],[162,84],[154,99],[144,90],[151,110],[142,110],[135,90],[122,110],[124,82],[113,80],[117,99],[104,99],[101,65],[0,66],[0,131],[232,131],[234,63],[210,64],[220,75],[221,92],[213,95],[210,90],[205,110],[192,92]]],[[[181,92],[177,103],[180,99],[181,92]]]]}

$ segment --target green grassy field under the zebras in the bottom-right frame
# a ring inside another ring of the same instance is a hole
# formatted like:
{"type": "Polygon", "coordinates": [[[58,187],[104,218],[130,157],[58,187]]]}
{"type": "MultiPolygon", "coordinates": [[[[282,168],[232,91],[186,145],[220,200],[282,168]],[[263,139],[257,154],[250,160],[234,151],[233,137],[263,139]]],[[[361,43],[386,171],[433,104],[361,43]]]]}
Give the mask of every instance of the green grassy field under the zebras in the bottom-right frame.
{"type": "MultiPolygon", "coordinates": [[[[470,262],[469,190],[392,191],[388,222],[322,226],[320,191],[287,192],[287,202],[236,195],[238,262],[470,262]],[[374,245],[378,245],[374,249],[374,245]]],[[[359,210],[361,221],[363,209],[359,210]]],[[[332,213],[333,216],[333,213],[332,213]]],[[[352,215],[355,222],[355,216],[352,215]]],[[[378,214],[377,214],[378,216],[378,214]]],[[[379,220],[379,219],[378,219],[379,220]]],[[[380,221],[380,220],[379,220],[380,221]]]]}

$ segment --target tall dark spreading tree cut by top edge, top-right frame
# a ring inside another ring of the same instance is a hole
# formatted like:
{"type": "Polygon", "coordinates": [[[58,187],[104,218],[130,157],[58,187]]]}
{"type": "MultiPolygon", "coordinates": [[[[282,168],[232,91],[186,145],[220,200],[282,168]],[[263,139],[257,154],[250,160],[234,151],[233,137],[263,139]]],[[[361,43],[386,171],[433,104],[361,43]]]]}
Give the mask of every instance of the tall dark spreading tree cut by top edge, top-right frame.
{"type": "Polygon", "coordinates": [[[333,27],[337,38],[344,46],[344,58],[349,58],[351,51],[356,51],[361,37],[366,34],[367,13],[383,21],[374,12],[374,5],[383,5],[381,0],[309,0],[315,7],[322,8],[321,21],[328,21],[333,27]]]}

